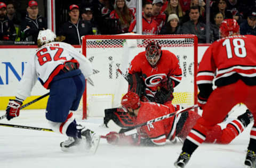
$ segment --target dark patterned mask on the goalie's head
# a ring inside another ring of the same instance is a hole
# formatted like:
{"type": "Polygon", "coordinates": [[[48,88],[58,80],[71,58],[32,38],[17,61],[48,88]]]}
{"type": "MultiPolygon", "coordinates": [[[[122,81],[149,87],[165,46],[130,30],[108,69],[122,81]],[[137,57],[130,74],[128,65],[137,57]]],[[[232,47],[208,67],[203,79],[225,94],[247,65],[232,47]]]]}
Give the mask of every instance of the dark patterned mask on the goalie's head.
{"type": "Polygon", "coordinates": [[[161,47],[151,42],[146,46],[146,57],[151,66],[155,66],[161,56],[161,47]]]}

